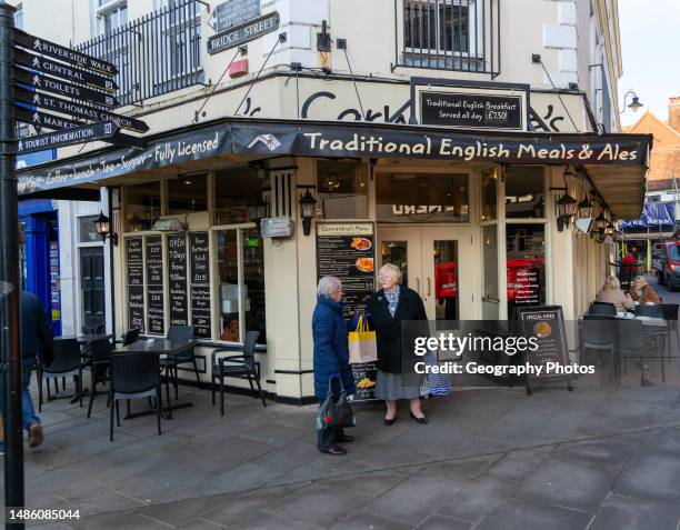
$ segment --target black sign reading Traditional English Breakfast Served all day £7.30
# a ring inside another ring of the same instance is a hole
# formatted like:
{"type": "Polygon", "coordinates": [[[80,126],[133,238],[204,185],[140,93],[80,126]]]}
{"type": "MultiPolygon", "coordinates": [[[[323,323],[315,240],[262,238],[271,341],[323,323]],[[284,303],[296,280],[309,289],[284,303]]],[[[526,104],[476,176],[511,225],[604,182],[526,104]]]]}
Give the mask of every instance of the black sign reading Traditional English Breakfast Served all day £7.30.
{"type": "Polygon", "coordinates": [[[420,123],[423,126],[521,131],[523,113],[520,96],[420,92],[420,123]]]}

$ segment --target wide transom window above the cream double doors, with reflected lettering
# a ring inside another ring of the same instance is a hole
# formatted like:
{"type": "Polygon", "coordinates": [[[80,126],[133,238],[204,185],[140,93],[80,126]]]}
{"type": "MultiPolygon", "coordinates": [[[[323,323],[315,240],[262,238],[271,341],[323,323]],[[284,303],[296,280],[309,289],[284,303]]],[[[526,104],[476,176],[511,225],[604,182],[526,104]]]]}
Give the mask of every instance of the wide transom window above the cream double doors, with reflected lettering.
{"type": "Polygon", "coordinates": [[[467,222],[468,174],[381,174],[376,179],[380,222],[467,222]]]}

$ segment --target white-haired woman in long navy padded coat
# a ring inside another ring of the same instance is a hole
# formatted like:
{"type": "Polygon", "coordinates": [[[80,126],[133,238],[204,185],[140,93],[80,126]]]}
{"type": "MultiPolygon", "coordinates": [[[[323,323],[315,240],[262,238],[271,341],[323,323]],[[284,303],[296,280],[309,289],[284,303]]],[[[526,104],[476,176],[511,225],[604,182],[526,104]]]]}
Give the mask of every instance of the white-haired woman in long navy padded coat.
{"type": "MultiPolygon", "coordinates": [[[[342,317],[342,283],[338,278],[321,278],[317,288],[317,307],[312,316],[312,338],[314,341],[314,393],[320,401],[328,394],[331,376],[340,376],[348,396],[353,394],[354,377],[349,364],[347,322],[342,317]]],[[[332,380],[336,397],[340,396],[340,379],[332,380]]],[[[347,450],[338,443],[352,441],[342,429],[326,429],[318,432],[319,451],[329,454],[346,454],[347,450]]]]}

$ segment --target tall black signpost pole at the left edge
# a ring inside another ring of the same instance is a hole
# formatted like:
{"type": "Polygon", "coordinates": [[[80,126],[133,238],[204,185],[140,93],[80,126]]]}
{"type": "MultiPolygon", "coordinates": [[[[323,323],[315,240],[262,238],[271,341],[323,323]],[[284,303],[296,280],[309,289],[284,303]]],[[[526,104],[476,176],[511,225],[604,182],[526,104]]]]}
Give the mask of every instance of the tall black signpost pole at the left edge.
{"type": "MultiPolygon", "coordinates": [[[[23,433],[21,424],[21,351],[17,141],[12,90],[14,8],[0,0],[0,292],[4,410],[4,507],[23,508],[23,433]]],[[[7,513],[6,513],[7,516],[7,513]]],[[[7,522],[7,521],[6,521],[7,522]]],[[[7,522],[6,528],[23,528],[7,522]]]]}

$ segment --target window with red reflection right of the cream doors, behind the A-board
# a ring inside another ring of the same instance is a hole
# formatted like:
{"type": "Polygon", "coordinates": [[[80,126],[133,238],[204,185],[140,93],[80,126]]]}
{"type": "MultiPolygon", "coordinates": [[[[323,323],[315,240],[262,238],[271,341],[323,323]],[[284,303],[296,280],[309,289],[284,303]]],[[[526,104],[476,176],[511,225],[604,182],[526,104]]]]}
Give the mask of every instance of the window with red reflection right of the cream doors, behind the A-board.
{"type": "Polygon", "coordinates": [[[506,229],[508,318],[519,306],[546,303],[546,229],[508,224],[506,229]]]}

